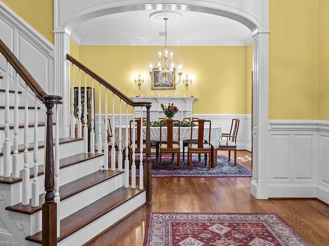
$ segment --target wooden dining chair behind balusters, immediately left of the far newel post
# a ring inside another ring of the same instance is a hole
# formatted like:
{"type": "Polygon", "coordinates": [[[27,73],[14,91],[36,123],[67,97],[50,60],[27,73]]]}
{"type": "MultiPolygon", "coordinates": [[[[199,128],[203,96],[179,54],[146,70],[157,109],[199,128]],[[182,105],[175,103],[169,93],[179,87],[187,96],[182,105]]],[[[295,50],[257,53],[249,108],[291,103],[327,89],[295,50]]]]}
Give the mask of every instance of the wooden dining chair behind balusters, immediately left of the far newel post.
{"type": "MultiPolygon", "coordinates": [[[[146,122],[147,118],[146,117],[137,117],[135,118],[135,128],[137,129],[136,134],[135,134],[135,154],[140,154],[140,130],[141,130],[141,119],[142,122],[146,122]]],[[[130,143],[128,147],[128,152],[129,152],[129,165],[131,167],[132,162],[133,162],[133,124],[134,120],[130,121],[130,143]]],[[[145,153],[145,141],[142,141],[142,153],[145,153]]]]}

